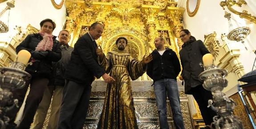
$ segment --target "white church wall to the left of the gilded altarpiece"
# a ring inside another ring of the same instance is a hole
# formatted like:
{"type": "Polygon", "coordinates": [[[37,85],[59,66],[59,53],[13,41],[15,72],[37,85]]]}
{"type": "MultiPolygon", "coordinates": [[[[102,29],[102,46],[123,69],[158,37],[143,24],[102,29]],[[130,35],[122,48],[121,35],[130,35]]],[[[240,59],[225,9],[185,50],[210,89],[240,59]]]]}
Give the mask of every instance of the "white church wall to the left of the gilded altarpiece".
{"type": "MultiPolygon", "coordinates": [[[[8,1],[0,4],[1,10],[7,6],[8,1]]],[[[1,21],[5,24],[8,24],[8,12],[6,11],[1,16],[1,21]]],[[[40,29],[40,21],[46,18],[50,18],[56,23],[53,35],[58,36],[65,23],[65,5],[61,9],[56,9],[51,0],[16,0],[15,7],[10,10],[9,31],[0,33],[0,41],[9,42],[16,35],[14,30],[16,25],[21,26],[22,33],[26,31],[28,24],[40,29]]]]}

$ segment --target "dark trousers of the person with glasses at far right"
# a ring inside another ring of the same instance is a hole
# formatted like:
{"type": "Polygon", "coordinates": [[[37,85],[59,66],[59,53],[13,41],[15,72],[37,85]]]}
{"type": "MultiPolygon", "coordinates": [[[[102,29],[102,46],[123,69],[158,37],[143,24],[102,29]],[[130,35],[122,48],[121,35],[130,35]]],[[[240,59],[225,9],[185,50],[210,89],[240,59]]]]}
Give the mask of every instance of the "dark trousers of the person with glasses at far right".
{"type": "Polygon", "coordinates": [[[213,111],[211,108],[207,108],[208,100],[212,100],[211,92],[204,89],[203,85],[198,85],[191,88],[191,90],[192,95],[199,106],[205,125],[211,125],[211,122],[213,122],[213,117],[217,116],[215,111],[213,111]]]}

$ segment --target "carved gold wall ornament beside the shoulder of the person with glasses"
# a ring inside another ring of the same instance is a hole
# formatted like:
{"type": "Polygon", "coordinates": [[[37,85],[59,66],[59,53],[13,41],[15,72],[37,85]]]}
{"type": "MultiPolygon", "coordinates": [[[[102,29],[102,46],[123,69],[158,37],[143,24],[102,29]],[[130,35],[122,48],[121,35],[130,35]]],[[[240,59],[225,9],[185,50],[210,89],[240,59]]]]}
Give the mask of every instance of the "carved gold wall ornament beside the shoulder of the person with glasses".
{"type": "Polygon", "coordinates": [[[214,60],[216,60],[216,57],[219,55],[219,41],[216,40],[216,32],[213,32],[209,35],[204,35],[204,39],[205,40],[203,41],[203,44],[211,52],[214,60]]]}

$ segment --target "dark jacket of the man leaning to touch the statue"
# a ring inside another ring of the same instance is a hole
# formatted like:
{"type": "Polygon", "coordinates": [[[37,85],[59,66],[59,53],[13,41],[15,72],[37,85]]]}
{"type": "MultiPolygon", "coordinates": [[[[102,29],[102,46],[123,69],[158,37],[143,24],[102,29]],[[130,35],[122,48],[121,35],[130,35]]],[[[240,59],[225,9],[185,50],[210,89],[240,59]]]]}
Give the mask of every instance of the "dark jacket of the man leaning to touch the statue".
{"type": "Polygon", "coordinates": [[[100,78],[105,73],[97,63],[96,47],[96,42],[88,33],[77,40],[65,71],[66,79],[77,83],[91,83],[93,76],[100,78]]]}

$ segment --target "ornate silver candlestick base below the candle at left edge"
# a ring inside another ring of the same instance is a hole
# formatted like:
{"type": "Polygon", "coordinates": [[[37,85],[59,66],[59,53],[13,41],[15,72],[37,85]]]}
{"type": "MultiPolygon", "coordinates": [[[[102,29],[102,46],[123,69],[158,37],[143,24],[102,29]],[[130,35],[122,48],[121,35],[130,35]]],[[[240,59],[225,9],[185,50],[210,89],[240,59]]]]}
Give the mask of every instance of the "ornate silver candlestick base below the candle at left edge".
{"type": "Polygon", "coordinates": [[[31,75],[24,71],[25,65],[19,62],[12,62],[9,67],[0,68],[0,129],[5,129],[9,118],[5,113],[18,106],[18,100],[12,96],[14,89],[21,89],[31,75]]]}

